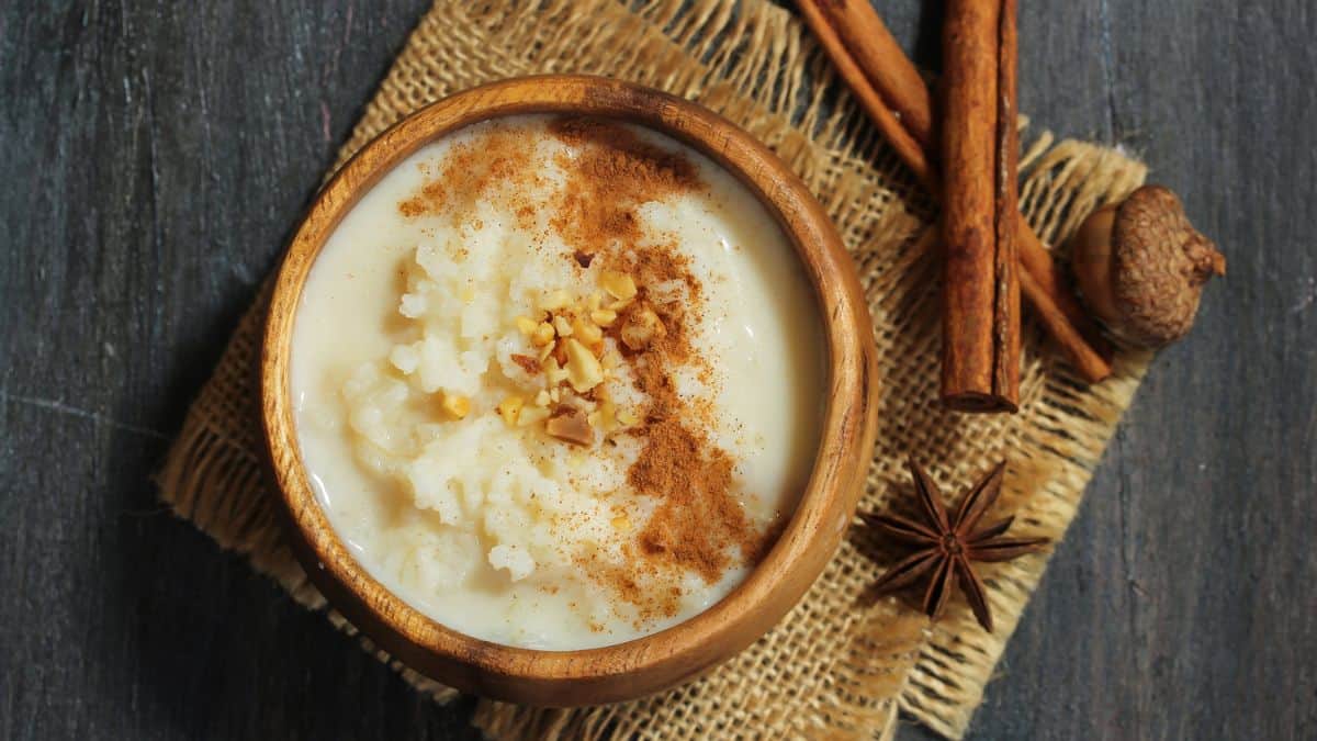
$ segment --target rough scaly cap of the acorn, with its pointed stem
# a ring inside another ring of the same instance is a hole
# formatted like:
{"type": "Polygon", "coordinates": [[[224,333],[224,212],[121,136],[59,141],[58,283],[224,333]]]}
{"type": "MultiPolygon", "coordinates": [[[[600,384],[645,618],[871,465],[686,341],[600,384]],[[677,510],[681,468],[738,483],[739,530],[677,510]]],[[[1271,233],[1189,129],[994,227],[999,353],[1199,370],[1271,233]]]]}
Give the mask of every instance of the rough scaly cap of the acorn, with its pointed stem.
{"type": "Polygon", "coordinates": [[[1143,186],[1117,208],[1112,225],[1113,331],[1160,347],[1193,327],[1202,286],[1225,276],[1226,258],[1162,186],[1143,186]]]}

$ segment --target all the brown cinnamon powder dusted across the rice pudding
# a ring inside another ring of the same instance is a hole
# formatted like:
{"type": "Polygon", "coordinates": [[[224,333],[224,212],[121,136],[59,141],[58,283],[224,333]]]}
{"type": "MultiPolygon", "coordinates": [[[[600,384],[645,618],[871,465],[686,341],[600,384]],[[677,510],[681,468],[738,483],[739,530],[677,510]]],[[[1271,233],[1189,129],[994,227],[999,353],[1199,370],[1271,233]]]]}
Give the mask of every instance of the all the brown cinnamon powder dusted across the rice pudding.
{"type": "MultiPolygon", "coordinates": [[[[637,215],[644,203],[707,186],[694,162],[619,124],[561,117],[549,123],[548,132],[572,148],[554,158],[565,182],[548,199],[532,195],[543,194],[548,182],[537,174],[535,133],[494,128],[479,148],[456,146],[440,177],[398,208],[408,218],[458,219],[471,214],[479,199],[508,199],[518,224],[547,225],[577,269],[635,278],[639,295],[605,334],[616,340],[636,389],[648,398],[640,422],[622,434],[639,443],[627,484],[651,498],[653,510],[635,527],[628,521],[632,513],[616,513],[615,522],[628,522],[622,529],[622,564],[594,550],[573,560],[582,576],[632,605],[639,621],[672,617],[681,609],[687,575],[715,584],[730,568],[755,563],[777,533],[763,531],[741,506],[734,484],[736,461],[707,432],[718,423],[712,403],[677,393],[677,370],[690,368],[706,381],[711,376],[712,365],[691,339],[691,327],[703,318],[703,290],[672,236],[647,228],[637,215]],[[537,220],[541,214],[545,219],[537,220]],[[684,289],[681,301],[673,301],[673,286],[684,289]],[[622,341],[624,327],[643,311],[658,318],[661,331],[647,347],[628,348],[622,341]]],[[[512,360],[528,373],[540,370],[539,359],[512,360]]]]}

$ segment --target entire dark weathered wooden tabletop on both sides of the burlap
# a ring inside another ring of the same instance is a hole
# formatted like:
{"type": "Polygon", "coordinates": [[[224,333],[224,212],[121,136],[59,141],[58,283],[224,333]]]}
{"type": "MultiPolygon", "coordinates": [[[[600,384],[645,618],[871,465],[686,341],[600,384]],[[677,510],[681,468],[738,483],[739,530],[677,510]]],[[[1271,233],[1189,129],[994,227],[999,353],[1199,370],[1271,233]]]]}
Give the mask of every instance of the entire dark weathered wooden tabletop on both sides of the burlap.
{"type": "MultiPolygon", "coordinates": [[[[931,65],[922,5],[880,3],[931,65]]],[[[1317,738],[1317,11],[1025,5],[1021,109],[1143,157],[1230,276],[973,736],[1317,738]]],[[[474,737],[469,701],[417,697],[149,481],[425,7],[0,4],[0,737],[474,737]]]]}

